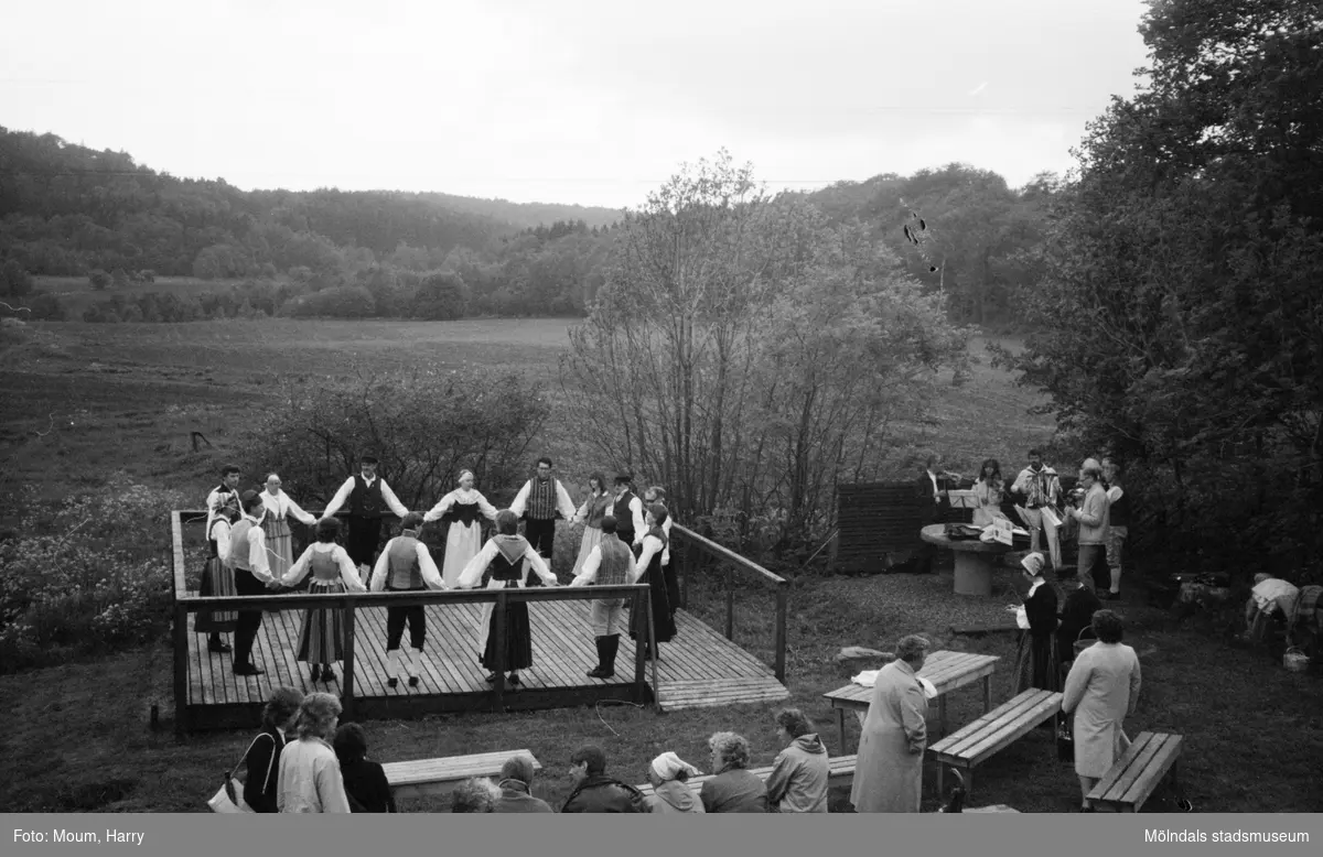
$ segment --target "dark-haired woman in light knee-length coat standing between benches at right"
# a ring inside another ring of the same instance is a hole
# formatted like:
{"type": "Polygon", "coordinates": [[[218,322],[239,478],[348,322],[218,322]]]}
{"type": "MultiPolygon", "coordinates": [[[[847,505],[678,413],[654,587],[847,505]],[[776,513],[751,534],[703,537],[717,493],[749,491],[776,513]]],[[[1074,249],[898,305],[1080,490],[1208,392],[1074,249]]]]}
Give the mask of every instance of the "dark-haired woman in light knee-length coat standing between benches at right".
{"type": "Polygon", "coordinates": [[[1093,615],[1098,641],[1080,652],[1061,700],[1065,714],[1074,712],[1076,774],[1081,809],[1093,812],[1089,792],[1130,747],[1121,726],[1139,701],[1139,656],[1122,644],[1121,616],[1110,610],[1093,615]]]}

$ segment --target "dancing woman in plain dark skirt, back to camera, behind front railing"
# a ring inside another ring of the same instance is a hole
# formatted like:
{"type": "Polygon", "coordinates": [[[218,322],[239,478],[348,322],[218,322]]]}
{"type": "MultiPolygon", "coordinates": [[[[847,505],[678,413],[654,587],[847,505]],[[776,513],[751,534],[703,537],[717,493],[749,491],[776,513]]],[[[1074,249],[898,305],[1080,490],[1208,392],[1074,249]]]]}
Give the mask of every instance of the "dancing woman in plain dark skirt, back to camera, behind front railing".
{"type": "MultiPolygon", "coordinates": [[[[460,589],[474,589],[483,573],[491,569],[491,582],[487,589],[516,589],[527,586],[528,569],[532,569],[546,586],[558,586],[556,575],[546,567],[542,558],[519,534],[519,516],[509,509],[496,514],[496,534],[487,540],[463,573],[459,575],[460,589]]],[[[483,604],[483,623],[487,626],[487,640],[483,645],[482,664],[488,671],[487,681],[497,678],[497,645],[505,645],[505,669],[509,671],[511,686],[519,685],[519,671],[533,665],[533,630],[528,619],[528,604],[508,602],[505,604],[505,640],[496,639],[495,604],[483,604]]]]}

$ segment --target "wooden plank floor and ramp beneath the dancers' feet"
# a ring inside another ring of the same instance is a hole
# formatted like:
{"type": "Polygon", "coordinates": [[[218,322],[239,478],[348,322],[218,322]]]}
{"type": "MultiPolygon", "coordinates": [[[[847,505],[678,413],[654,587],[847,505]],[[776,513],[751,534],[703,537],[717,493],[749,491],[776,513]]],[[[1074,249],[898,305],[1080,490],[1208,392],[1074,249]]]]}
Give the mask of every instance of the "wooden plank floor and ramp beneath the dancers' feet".
{"type": "MultiPolygon", "coordinates": [[[[479,664],[479,604],[429,604],[427,641],[419,684],[410,688],[401,672],[396,688],[386,686],[386,608],[355,611],[355,697],[357,700],[427,697],[435,694],[486,694],[487,671],[479,664]]],[[[529,604],[533,626],[533,667],[520,671],[528,690],[552,688],[602,688],[628,685],[634,678],[634,641],[620,636],[620,652],[614,678],[589,678],[597,664],[597,649],[589,623],[589,603],[581,600],[529,604]]],[[[302,610],[267,612],[254,645],[254,660],[266,669],[262,676],[239,677],[232,669],[230,655],[208,652],[206,637],[189,633],[188,705],[191,708],[261,705],[271,689],[280,685],[304,693],[339,693],[340,682],[308,680],[310,664],[295,660],[299,647],[302,610]]],[[[785,700],[790,694],[777,681],[771,668],[726,640],[684,611],[676,614],[677,633],[662,644],[658,663],[660,702],[664,709],[736,705],[785,700]]],[[[233,643],[233,635],[226,635],[233,643]]],[[[405,632],[404,645],[409,635],[405,632]]],[[[344,677],[343,665],[335,667],[344,677]]],[[[651,686],[651,665],[646,673],[651,686]]]]}

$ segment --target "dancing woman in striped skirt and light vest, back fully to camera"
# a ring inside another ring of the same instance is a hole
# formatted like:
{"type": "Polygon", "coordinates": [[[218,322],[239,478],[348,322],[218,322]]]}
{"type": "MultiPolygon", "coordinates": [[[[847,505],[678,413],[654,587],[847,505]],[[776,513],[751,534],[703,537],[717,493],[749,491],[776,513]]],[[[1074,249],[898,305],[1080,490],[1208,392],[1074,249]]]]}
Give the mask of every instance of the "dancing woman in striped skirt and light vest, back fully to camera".
{"type": "MultiPolygon", "coordinates": [[[[280,578],[283,586],[298,586],[312,573],[310,595],[332,592],[365,592],[368,587],[359,579],[359,570],[344,548],[335,544],[340,534],[340,521],[327,518],[318,522],[318,540],[308,545],[299,561],[280,578]]],[[[331,664],[344,660],[344,611],[339,607],[310,607],[303,614],[299,632],[298,660],[312,664],[312,681],[336,681],[331,664]]]]}

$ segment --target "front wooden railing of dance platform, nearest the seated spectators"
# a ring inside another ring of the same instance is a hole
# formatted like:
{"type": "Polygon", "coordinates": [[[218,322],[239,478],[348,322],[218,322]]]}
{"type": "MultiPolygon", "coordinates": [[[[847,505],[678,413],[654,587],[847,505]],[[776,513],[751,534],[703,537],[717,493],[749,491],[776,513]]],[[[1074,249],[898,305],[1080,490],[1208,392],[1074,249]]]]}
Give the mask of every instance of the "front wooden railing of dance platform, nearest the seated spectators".
{"type": "MultiPolygon", "coordinates": [[[[318,514],[316,512],[310,512],[318,514]]],[[[505,633],[505,606],[511,602],[537,603],[554,600],[597,600],[609,598],[631,598],[632,610],[646,626],[644,633],[650,648],[656,651],[655,631],[652,627],[652,611],[650,603],[650,587],[647,583],[623,586],[585,586],[585,587],[534,587],[534,589],[474,589],[448,591],[417,591],[417,592],[344,592],[344,594],[273,594],[273,595],[228,595],[228,596],[200,596],[188,587],[188,573],[184,554],[184,525],[205,521],[205,512],[181,510],[171,513],[171,541],[173,546],[175,566],[175,603],[172,640],[175,649],[175,727],[183,730],[188,722],[188,614],[198,611],[235,611],[235,610],[262,610],[282,611],[310,607],[340,608],[344,611],[344,678],[341,682],[341,705],[344,708],[343,719],[352,718],[355,705],[355,611],[363,607],[413,607],[415,604],[471,604],[495,603],[495,635],[504,639],[505,633]]],[[[497,663],[492,672],[496,673],[492,689],[491,708],[496,712],[504,710],[505,674],[504,659],[505,647],[496,645],[497,663]]],[[[639,698],[644,698],[647,690],[646,667],[643,660],[643,647],[636,647],[634,660],[634,684],[639,692],[639,698]]],[[[652,663],[652,696],[654,705],[662,704],[660,682],[658,677],[658,664],[652,663]]]]}

